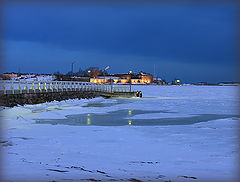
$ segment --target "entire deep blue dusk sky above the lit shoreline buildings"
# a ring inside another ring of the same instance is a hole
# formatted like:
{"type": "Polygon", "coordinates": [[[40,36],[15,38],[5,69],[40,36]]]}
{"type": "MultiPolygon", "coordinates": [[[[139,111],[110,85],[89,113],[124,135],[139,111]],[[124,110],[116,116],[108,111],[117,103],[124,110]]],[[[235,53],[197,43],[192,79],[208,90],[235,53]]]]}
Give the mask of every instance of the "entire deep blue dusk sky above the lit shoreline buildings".
{"type": "Polygon", "coordinates": [[[110,66],[171,81],[235,81],[234,4],[5,4],[5,71],[110,66]]]}

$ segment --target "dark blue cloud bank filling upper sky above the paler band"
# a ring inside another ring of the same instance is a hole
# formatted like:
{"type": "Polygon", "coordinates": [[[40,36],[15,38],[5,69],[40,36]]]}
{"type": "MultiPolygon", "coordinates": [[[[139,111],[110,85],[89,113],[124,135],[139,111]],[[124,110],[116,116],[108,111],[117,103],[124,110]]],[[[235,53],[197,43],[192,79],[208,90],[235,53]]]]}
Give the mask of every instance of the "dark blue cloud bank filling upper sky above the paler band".
{"type": "Polygon", "coordinates": [[[18,4],[4,10],[7,40],[191,62],[235,59],[231,5],[18,4]]]}

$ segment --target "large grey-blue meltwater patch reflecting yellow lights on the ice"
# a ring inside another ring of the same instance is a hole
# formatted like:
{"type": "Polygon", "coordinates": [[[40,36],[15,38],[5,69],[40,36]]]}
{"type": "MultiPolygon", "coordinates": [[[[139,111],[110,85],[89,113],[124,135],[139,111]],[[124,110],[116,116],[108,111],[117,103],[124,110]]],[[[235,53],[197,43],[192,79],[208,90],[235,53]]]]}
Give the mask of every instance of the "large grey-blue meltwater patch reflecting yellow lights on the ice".
{"type": "Polygon", "coordinates": [[[64,119],[35,119],[36,124],[62,124],[76,126],[156,126],[156,125],[189,125],[199,122],[208,122],[217,119],[226,119],[238,117],[236,115],[226,114],[191,114],[188,117],[166,117],[154,119],[131,119],[131,117],[139,114],[154,114],[154,113],[169,113],[175,114],[166,110],[149,111],[149,110],[118,110],[107,113],[85,113],[77,115],[67,115],[64,119]]]}

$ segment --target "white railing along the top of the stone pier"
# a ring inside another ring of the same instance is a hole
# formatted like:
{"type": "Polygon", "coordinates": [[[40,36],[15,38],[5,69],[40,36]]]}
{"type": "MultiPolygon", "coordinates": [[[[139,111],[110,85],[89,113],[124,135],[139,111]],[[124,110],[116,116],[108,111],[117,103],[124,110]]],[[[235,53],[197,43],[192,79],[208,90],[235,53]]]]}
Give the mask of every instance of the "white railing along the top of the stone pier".
{"type": "Polygon", "coordinates": [[[65,91],[130,92],[128,86],[77,81],[0,81],[1,94],[45,93],[65,91]]]}

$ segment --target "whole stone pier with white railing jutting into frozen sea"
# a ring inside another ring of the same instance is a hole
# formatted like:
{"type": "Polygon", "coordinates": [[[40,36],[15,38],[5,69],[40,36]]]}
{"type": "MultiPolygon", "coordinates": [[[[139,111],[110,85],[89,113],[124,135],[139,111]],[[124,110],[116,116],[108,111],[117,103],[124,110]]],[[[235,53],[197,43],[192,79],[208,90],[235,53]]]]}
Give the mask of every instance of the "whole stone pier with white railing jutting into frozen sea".
{"type": "Polygon", "coordinates": [[[129,86],[76,81],[1,81],[0,94],[0,105],[10,107],[98,96],[140,96],[129,86]]]}

